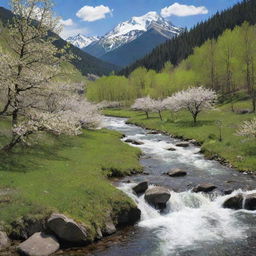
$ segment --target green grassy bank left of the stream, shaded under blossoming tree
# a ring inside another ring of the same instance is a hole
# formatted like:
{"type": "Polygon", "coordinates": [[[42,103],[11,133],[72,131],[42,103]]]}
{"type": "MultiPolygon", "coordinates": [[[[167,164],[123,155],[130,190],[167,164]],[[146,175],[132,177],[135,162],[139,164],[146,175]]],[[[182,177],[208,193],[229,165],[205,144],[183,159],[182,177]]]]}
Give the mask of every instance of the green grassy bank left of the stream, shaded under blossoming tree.
{"type": "MultiPolygon", "coordinates": [[[[1,131],[8,127],[8,121],[0,122],[1,131]]],[[[42,135],[38,145],[2,153],[0,220],[8,225],[22,216],[57,211],[83,222],[93,238],[108,212],[133,205],[108,180],[112,174],[142,170],[140,151],[121,142],[120,136],[105,129],[85,130],[78,137],[42,135]],[[6,188],[11,193],[1,195],[6,188]]],[[[0,137],[0,144],[4,141],[0,137]]]]}

